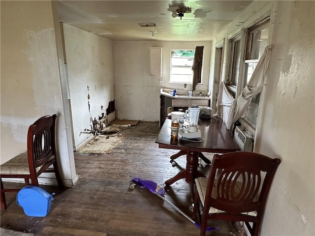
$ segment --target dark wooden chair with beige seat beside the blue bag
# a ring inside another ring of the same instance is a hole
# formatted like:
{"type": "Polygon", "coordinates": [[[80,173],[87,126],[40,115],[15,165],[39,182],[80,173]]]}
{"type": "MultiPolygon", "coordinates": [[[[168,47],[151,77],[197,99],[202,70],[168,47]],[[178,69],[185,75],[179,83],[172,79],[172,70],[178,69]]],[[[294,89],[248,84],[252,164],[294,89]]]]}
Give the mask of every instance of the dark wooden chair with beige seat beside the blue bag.
{"type": "Polygon", "coordinates": [[[5,192],[20,189],[6,189],[2,178],[24,178],[25,184],[38,186],[37,177],[44,173],[55,173],[58,185],[64,187],[58,168],[55,146],[55,126],[57,115],[37,119],[28,130],[27,152],[21,153],[0,166],[1,209],[6,209],[5,192]],[[53,165],[53,169],[49,168],[53,165]],[[49,169],[48,169],[49,168],[49,169]]]}

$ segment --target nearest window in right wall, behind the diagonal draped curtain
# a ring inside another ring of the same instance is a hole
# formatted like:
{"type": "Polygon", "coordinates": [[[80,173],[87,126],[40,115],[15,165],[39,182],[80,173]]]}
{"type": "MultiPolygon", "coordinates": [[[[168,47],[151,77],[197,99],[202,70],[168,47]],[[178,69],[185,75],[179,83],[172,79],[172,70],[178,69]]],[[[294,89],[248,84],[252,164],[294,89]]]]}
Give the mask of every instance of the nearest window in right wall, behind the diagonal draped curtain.
{"type": "MultiPolygon", "coordinates": [[[[265,19],[249,29],[247,34],[247,47],[245,52],[245,76],[246,83],[248,83],[252,77],[261,55],[265,48],[268,46],[269,31],[270,31],[270,20],[265,19]]],[[[245,87],[245,85],[244,85],[245,87]]],[[[258,107],[259,107],[260,94],[257,94],[252,98],[252,101],[242,118],[249,124],[253,129],[256,128],[258,107]]]]}

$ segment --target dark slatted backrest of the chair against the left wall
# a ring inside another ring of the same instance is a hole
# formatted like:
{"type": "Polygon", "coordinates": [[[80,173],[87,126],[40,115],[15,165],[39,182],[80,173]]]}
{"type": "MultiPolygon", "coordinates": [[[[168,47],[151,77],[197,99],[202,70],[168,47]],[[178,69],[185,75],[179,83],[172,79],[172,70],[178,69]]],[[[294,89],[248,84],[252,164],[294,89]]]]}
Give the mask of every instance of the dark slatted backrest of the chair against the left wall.
{"type": "Polygon", "coordinates": [[[28,131],[27,147],[30,171],[48,163],[56,153],[55,126],[57,115],[37,119],[28,131]]]}

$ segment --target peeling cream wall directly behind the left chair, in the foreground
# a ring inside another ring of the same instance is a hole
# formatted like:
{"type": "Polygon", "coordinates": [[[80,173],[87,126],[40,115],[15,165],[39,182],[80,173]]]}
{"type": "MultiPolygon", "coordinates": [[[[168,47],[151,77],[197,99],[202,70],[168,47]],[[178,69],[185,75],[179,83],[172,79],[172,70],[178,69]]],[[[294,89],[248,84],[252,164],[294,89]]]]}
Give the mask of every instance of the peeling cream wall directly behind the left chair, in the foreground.
{"type": "MultiPolygon", "coordinates": [[[[1,164],[27,150],[27,131],[57,114],[57,152],[63,179],[76,177],[67,139],[50,1],[1,1],[1,164]]],[[[70,145],[70,146],[69,146],[70,145]]]]}

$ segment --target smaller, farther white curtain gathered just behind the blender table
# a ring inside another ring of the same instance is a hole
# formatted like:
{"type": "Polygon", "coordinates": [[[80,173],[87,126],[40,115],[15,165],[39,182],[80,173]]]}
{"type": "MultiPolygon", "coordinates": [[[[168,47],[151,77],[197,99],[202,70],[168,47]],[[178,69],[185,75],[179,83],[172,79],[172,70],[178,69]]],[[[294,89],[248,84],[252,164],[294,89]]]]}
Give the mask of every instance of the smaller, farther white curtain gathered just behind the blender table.
{"type": "Polygon", "coordinates": [[[214,116],[221,118],[225,126],[227,123],[230,107],[234,100],[234,97],[228,92],[227,88],[225,87],[224,82],[221,82],[216,104],[217,113],[214,114],[214,116]]]}

